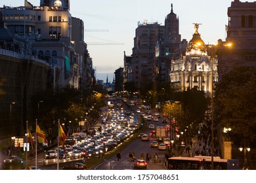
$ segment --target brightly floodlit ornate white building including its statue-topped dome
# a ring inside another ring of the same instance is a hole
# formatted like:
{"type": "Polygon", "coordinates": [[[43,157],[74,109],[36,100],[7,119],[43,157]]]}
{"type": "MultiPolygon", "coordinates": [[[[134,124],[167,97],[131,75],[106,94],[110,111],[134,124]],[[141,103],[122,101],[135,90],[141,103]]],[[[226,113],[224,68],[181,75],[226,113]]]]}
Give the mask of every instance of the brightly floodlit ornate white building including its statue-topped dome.
{"type": "Polygon", "coordinates": [[[192,39],[188,42],[186,55],[172,60],[170,78],[171,83],[177,84],[181,91],[196,87],[207,95],[211,95],[212,82],[213,80],[214,82],[218,81],[218,61],[214,55],[212,67],[207,45],[205,45],[198,32],[199,25],[194,24],[196,30],[192,39]]]}

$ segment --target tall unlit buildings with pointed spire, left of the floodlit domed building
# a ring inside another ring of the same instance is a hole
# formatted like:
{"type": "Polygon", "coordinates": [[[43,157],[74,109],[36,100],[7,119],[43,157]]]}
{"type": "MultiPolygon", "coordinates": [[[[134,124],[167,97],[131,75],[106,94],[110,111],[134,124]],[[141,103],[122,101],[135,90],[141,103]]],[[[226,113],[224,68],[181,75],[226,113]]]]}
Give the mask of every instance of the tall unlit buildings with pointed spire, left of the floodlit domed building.
{"type": "MultiPolygon", "coordinates": [[[[158,22],[138,23],[135,30],[131,63],[124,59],[124,82],[134,82],[137,89],[153,82],[169,82],[171,59],[182,53],[179,18],[173,12],[165,17],[165,25],[158,22]]],[[[186,47],[186,46],[185,46],[186,47]]]]}

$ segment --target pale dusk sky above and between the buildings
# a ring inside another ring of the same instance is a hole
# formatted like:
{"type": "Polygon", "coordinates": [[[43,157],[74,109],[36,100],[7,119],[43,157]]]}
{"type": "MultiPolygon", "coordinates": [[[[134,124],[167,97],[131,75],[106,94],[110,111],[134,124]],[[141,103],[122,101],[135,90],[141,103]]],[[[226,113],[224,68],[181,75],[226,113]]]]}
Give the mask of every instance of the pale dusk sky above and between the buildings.
{"type": "MultiPolygon", "coordinates": [[[[28,0],[39,6],[40,0],[28,0]]],[[[194,33],[193,23],[202,24],[199,33],[205,44],[225,39],[225,24],[228,24],[227,10],[234,0],[70,0],[72,16],[83,20],[85,29],[105,29],[108,31],[85,31],[85,42],[117,42],[118,45],[88,45],[96,79],[106,76],[112,81],[114,72],[123,67],[123,52],[132,54],[133,39],[138,22],[158,22],[164,25],[165,17],[173,12],[179,17],[181,39],[190,41],[194,33]]],[[[253,0],[254,1],[254,0],[253,0]]],[[[249,2],[253,2],[249,1],[249,2]]],[[[245,2],[245,1],[242,1],[245,2]]],[[[0,0],[3,5],[18,7],[24,0],[0,0]]]]}

